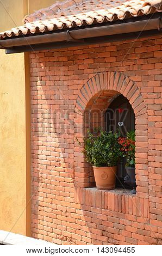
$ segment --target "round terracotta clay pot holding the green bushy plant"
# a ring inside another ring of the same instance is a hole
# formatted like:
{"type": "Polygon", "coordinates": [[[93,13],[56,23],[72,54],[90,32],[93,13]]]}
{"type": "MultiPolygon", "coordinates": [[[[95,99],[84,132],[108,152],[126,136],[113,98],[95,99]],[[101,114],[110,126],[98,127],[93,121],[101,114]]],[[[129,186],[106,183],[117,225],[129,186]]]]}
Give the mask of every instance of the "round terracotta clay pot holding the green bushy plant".
{"type": "Polygon", "coordinates": [[[113,167],[96,167],[94,176],[98,190],[114,190],[116,181],[117,166],[113,167]]]}

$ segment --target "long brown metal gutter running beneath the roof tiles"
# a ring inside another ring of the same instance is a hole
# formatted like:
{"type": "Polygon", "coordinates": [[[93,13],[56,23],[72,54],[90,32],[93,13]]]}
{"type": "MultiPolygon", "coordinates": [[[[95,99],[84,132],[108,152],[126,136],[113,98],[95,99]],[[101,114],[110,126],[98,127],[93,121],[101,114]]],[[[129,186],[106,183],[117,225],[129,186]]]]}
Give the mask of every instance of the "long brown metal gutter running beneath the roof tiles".
{"type": "Polygon", "coordinates": [[[66,32],[55,32],[51,34],[23,36],[13,39],[0,40],[0,48],[10,48],[15,46],[28,46],[35,44],[46,44],[49,42],[78,41],[96,36],[125,34],[139,31],[149,31],[162,27],[161,17],[151,20],[122,23],[117,25],[76,29],[66,32]]]}

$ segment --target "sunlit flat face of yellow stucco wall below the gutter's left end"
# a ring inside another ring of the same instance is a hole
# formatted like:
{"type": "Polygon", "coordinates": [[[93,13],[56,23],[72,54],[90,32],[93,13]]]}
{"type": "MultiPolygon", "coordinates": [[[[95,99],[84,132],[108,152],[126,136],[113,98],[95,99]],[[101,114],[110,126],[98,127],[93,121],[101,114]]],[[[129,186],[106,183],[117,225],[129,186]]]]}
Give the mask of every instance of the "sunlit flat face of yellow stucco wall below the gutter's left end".
{"type": "Polygon", "coordinates": [[[0,52],[0,229],[26,234],[26,106],[23,54],[0,52]],[[12,64],[11,64],[12,63],[12,64]]]}

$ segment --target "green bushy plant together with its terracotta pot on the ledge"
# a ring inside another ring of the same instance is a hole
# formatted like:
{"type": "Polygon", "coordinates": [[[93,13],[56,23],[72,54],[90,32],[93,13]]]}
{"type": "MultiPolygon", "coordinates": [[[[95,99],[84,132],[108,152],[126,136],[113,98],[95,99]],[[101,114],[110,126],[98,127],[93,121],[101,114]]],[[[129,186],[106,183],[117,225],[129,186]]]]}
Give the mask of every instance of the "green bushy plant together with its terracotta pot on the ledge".
{"type": "Polygon", "coordinates": [[[119,135],[99,130],[93,134],[88,131],[84,139],[86,159],[94,168],[96,186],[99,190],[115,188],[117,162],[120,157],[119,135]]]}

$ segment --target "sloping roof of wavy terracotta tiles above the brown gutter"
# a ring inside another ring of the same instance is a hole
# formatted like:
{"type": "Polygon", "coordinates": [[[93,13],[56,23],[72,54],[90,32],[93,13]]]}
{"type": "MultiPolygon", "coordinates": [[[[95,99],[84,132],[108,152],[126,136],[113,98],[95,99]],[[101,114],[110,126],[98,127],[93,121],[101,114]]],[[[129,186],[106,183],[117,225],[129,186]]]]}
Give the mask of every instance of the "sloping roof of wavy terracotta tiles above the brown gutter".
{"type": "Polygon", "coordinates": [[[24,25],[1,33],[11,36],[55,31],[162,11],[162,0],[65,0],[24,17],[24,25]]]}

